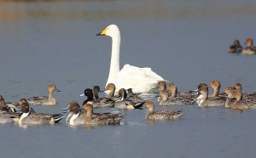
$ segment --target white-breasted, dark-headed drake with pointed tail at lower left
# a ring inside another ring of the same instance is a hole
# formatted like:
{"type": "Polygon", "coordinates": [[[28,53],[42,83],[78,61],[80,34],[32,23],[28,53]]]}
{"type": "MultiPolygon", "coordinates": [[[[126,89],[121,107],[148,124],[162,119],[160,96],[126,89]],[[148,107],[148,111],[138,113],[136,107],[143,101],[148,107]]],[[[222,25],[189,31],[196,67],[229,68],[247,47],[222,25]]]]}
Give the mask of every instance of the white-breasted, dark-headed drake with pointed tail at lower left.
{"type": "Polygon", "coordinates": [[[20,116],[19,124],[30,124],[30,125],[47,125],[55,124],[61,121],[61,114],[43,114],[43,113],[33,113],[29,109],[29,104],[22,103],[20,104],[22,115],[20,116]]]}

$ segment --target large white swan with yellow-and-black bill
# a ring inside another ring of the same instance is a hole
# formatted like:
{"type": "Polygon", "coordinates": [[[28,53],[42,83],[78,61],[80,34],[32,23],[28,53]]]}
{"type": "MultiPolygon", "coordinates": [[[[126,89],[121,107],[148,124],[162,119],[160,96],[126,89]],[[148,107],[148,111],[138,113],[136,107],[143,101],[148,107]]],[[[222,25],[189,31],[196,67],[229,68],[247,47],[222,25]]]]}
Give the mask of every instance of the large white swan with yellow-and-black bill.
{"type": "Polygon", "coordinates": [[[112,54],[108,83],[114,83],[116,93],[120,88],[132,88],[135,93],[148,93],[157,82],[165,81],[161,76],[151,71],[151,68],[139,68],[132,65],[124,65],[119,71],[119,47],[120,32],[117,25],[108,25],[108,27],[96,36],[107,35],[112,37],[112,54]]]}

